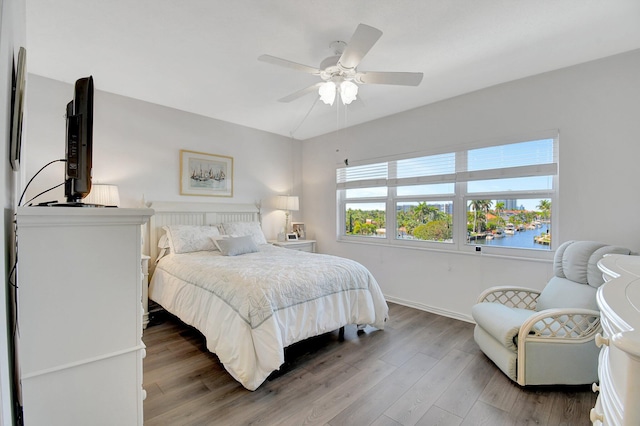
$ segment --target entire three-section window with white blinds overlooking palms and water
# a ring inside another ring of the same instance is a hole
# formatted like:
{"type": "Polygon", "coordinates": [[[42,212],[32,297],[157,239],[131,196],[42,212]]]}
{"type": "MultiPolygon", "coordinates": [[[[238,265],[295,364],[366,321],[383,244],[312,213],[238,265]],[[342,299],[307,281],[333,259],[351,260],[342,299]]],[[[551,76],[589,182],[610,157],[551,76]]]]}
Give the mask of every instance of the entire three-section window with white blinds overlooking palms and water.
{"type": "Polygon", "coordinates": [[[338,238],[445,250],[482,245],[496,253],[548,252],[557,146],[554,134],[339,167],[338,238]]]}

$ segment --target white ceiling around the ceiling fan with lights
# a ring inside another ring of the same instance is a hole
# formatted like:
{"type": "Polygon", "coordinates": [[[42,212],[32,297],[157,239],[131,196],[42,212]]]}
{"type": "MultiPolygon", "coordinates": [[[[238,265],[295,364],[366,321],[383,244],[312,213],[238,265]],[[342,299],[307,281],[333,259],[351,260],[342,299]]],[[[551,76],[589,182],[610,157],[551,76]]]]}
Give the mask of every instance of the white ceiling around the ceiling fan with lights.
{"type": "Polygon", "coordinates": [[[640,48],[638,0],[27,0],[26,19],[29,73],[300,140],[640,48]],[[319,77],[258,56],[318,67],[359,23],[383,35],[358,70],[418,87],[277,101],[319,77]]]}

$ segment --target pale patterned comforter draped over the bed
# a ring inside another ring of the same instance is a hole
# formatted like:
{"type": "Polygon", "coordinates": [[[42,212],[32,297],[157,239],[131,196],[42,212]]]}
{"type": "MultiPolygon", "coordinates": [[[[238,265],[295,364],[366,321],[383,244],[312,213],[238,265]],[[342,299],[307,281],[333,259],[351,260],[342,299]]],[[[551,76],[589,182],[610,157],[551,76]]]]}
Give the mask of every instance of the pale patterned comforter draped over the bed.
{"type": "Polygon", "coordinates": [[[388,307],[371,273],[336,256],[261,245],[257,253],[170,255],[149,297],[204,334],[227,371],[255,390],[292,343],[347,324],[384,328],[388,307]]]}

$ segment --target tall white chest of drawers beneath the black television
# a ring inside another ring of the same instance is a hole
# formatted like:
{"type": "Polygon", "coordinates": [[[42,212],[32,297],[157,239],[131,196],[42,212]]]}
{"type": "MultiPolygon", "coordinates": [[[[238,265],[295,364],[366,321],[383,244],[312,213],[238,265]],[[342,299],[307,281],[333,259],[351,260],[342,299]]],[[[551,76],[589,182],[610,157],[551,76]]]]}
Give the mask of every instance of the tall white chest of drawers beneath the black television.
{"type": "Polygon", "coordinates": [[[25,425],[142,425],[140,238],[152,214],[18,209],[25,425]]]}

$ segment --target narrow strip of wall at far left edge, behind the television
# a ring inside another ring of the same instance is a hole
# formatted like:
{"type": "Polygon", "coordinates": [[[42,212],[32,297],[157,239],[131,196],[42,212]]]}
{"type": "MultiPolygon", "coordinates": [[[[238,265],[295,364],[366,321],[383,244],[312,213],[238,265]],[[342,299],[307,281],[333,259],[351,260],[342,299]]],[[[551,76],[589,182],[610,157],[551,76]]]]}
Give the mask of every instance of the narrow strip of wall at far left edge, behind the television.
{"type": "MultiPolygon", "coordinates": [[[[0,247],[0,268],[4,276],[4,285],[0,290],[0,425],[13,424],[12,407],[12,327],[8,325],[10,312],[8,306],[12,296],[8,289],[8,275],[13,263],[13,217],[16,186],[20,174],[9,165],[9,135],[11,129],[11,92],[12,74],[17,63],[20,46],[25,46],[26,24],[25,5],[20,0],[0,0],[0,175],[4,176],[4,185],[0,186],[0,199],[3,201],[3,226],[0,238],[4,242],[0,247]]],[[[28,56],[28,55],[27,55],[28,56]]]]}

